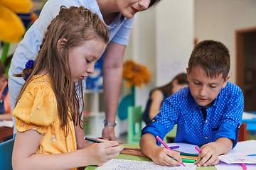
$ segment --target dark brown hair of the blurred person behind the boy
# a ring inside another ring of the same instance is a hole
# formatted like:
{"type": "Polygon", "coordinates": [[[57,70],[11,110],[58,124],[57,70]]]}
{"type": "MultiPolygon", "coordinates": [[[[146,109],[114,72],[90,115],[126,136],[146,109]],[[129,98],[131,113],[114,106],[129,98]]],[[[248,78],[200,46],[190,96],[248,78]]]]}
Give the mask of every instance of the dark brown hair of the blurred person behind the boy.
{"type": "MultiPolygon", "coordinates": [[[[186,73],[178,74],[174,79],[176,79],[178,81],[179,85],[188,84],[186,73]]],[[[160,86],[160,87],[156,87],[156,89],[159,89],[159,90],[163,91],[164,94],[168,94],[168,96],[171,96],[172,89],[173,89],[172,82],[174,81],[174,79],[172,79],[171,82],[169,82],[169,84],[166,84],[166,85],[160,86]]]]}

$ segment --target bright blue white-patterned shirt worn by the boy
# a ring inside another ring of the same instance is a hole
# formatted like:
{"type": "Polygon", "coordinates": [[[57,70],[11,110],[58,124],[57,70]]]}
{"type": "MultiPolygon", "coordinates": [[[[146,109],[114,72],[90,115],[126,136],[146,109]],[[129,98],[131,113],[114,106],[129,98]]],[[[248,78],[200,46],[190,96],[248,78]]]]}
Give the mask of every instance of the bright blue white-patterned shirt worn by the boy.
{"type": "MultiPolygon", "coordinates": [[[[142,135],[150,132],[164,139],[167,132],[177,124],[175,142],[186,142],[202,146],[214,142],[219,137],[228,137],[233,147],[238,142],[244,100],[241,89],[228,82],[220,90],[212,106],[206,109],[206,120],[203,119],[201,106],[196,103],[189,87],[166,98],[161,111],[151,123],[142,130],[142,135]]],[[[157,141],[157,145],[160,142],[157,141]]]]}

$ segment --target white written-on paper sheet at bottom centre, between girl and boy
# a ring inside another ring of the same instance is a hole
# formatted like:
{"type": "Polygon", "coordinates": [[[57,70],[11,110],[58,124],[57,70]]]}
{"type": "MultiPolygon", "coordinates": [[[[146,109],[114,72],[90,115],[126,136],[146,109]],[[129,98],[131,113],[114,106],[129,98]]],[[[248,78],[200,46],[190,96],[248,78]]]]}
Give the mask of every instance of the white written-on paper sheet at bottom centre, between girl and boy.
{"type": "Polygon", "coordinates": [[[184,163],[185,166],[160,166],[154,162],[145,162],[145,161],[132,161],[124,159],[111,159],[109,162],[106,162],[97,170],[160,170],[160,169],[172,169],[172,170],[195,170],[196,165],[190,163],[184,163]]]}

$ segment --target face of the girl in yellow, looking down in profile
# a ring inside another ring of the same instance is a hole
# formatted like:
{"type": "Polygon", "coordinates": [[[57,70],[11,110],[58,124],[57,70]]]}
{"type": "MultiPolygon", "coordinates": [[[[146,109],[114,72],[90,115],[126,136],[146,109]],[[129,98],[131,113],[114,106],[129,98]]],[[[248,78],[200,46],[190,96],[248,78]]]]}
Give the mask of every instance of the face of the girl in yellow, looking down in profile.
{"type": "Polygon", "coordinates": [[[98,39],[87,40],[80,46],[70,47],[68,60],[73,82],[85,79],[94,72],[95,62],[100,59],[105,48],[105,42],[98,39]]]}

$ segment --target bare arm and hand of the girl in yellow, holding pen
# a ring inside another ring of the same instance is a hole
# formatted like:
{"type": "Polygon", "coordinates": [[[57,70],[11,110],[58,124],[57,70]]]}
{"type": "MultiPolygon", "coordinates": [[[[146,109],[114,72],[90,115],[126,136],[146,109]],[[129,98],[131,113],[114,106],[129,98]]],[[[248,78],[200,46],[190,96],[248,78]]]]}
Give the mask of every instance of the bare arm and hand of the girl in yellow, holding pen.
{"type": "Polygon", "coordinates": [[[117,157],[123,146],[116,141],[92,143],[85,149],[64,154],[36,154],[42,134],[36,130],[17,132],[12,156],[13,169],[73,169],[103,164],[117,157]]]}

